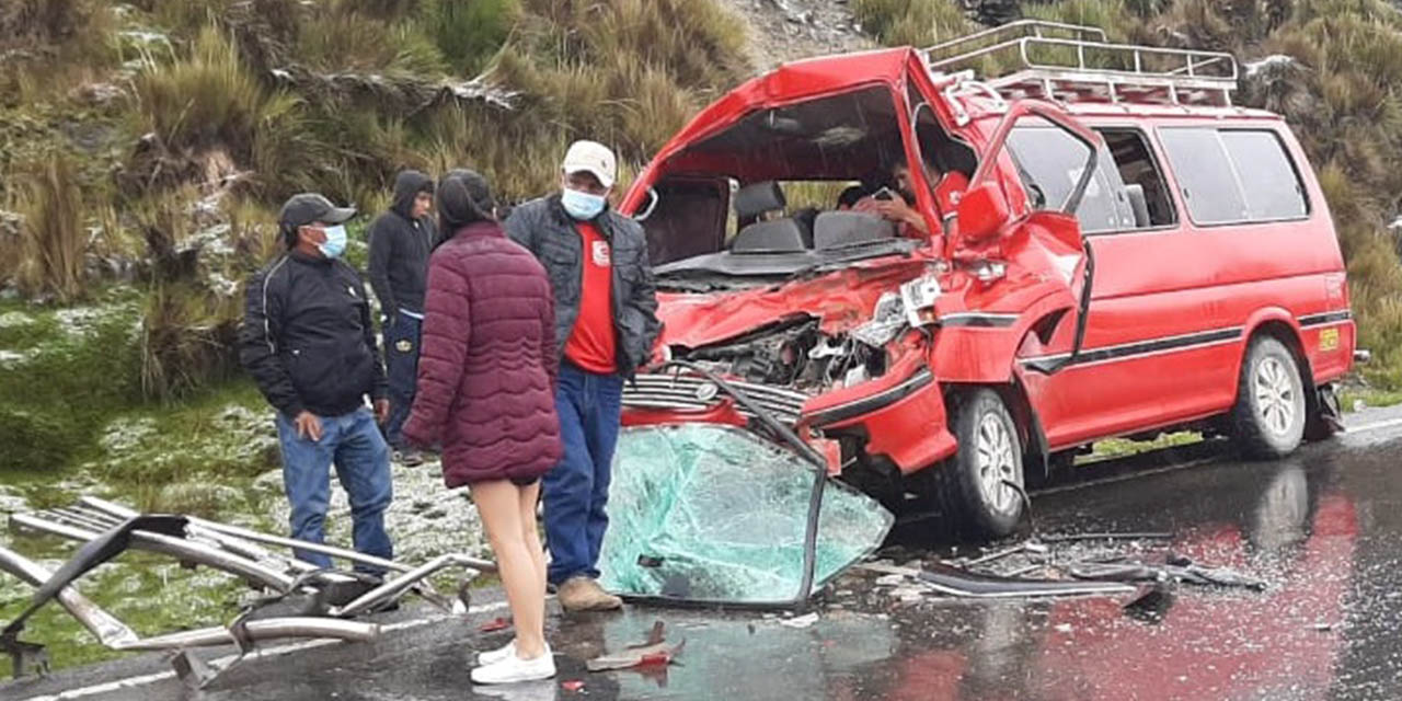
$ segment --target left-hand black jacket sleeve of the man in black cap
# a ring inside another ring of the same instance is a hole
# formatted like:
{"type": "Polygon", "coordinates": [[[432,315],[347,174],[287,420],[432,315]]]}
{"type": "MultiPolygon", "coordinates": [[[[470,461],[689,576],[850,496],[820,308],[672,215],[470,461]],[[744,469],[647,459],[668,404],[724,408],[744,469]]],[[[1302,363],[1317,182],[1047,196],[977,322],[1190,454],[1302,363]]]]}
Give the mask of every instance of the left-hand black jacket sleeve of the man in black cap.
{"type": "Polygon", "coordinates": [[[292,386],[292,376],[278,355],[282,335],[282,289],[278,271],[283,262],[259,272],[248,280],[243,324],[238,327],[238,362],[258,383],[268,402],[285,416],[301,414],[301,398],[292,386]]]}

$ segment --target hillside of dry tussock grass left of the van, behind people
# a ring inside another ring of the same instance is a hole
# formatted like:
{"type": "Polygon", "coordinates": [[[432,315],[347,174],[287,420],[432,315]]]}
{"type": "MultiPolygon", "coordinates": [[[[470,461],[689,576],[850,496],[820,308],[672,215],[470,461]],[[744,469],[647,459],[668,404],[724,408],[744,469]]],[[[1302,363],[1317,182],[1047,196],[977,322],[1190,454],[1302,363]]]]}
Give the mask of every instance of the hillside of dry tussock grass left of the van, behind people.
{"type": "Polygon", "coordinates": [[[632,168],[744,41],[711,0],[0,0],[0,470],[226,391],[286,196],[373,213],[400,168],[457,165],[536,196],[583,136],[632,168]],[[52,332],[66,308],[115,321],[52,332]]]}

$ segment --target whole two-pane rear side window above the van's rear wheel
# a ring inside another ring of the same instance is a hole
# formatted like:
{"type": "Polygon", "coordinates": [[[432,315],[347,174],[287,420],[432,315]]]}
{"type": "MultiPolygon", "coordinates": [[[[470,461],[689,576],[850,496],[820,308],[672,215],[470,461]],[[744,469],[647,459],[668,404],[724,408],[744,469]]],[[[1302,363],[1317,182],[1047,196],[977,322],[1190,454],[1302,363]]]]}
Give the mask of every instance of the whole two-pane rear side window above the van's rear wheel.
{"type": "Polygon", "coordinates": [[[1297,219],[1308,213],[1304,185],[1274,132],[1172,128],[1159,139],[1196,224],[1297,219]]]}

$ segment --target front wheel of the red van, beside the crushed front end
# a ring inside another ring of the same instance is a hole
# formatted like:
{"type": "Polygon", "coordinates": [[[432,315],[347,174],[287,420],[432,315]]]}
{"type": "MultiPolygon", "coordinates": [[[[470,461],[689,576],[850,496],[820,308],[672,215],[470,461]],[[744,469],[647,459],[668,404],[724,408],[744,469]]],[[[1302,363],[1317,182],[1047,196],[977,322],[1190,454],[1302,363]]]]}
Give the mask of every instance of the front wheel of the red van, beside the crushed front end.
{"type": "Polygon", "coordinates": [[[937,492],[948,526],[960,536],[1001,538],[1022,520],[1022,442],[998,393],[977,388],[959,397],[952,422],[959,451],[938,465],[937,492]],[[997,489],[994,489],[997,486],[997,489]]]}

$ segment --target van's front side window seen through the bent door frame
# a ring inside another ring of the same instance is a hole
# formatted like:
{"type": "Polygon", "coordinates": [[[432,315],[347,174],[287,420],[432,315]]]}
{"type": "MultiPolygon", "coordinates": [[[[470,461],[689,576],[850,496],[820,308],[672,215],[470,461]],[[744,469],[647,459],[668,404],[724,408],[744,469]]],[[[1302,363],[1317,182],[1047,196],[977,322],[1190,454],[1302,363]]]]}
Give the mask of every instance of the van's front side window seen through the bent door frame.
{"type": "MultiPolygon", "coordinates": [[[[1056,126],[1040,119],[1019,123],[1008,135],[1008,151],[1018,165],[1028,199],[1036,209],[1061,209],[1081,178],[1085,167],[1085,144],[1056,126]]],[[[1131,229],[1134,216],[1127,202],[1120,202],[1116,193],[1120,188],[1119,172],[1108,153],[1096,158],[1095,175],[1085,188],[1075,217],[1081,231],[1117,231],[1131,229]]]]}

